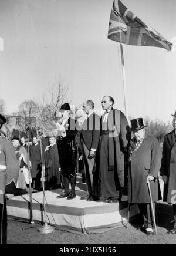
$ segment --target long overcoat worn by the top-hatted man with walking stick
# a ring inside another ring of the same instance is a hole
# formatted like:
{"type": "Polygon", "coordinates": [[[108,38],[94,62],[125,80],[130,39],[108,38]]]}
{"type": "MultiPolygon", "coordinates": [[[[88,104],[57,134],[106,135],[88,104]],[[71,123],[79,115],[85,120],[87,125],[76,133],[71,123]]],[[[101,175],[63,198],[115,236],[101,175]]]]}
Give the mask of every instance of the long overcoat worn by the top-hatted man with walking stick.
{"type": "MultiPolygon", "coordinates": [[[[134,149],[135,140],[130,147],[134,149]]],[[[131,151],[131,150],[130,150],[131,151]]],[[[131,154],[128,168],[128,201],[129,203],[150,203],[147,176],[155,177],[150,182],[153,202],[161,199],[158,173],[161,167],[161,147],[155,137],[148,135],[140,147],[131,154]]]]}

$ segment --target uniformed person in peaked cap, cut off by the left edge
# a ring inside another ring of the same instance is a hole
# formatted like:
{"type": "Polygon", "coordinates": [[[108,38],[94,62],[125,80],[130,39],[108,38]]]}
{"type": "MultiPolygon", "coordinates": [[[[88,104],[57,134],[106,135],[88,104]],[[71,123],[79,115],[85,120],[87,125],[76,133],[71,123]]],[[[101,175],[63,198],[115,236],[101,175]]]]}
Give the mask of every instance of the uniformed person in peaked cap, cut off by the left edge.
{"type": "MultiPolygon", "coordinates": [[[[4,116],[0,114],[0,129],[6,123],[4,116]]],[[[0,244],[6,244],[7,213],[6,199],[12,197],[16,181],[18,179],[19,167],[11,140],[0,132],[0,244]]]]}

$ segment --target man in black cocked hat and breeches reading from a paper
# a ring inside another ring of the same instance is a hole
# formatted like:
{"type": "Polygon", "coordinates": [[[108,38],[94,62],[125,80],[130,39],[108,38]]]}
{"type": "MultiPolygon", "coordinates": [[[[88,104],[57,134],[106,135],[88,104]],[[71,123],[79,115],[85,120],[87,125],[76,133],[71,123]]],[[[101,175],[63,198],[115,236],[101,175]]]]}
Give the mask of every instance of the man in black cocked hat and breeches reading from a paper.
{"type": "Polygon", "coordinates": [[[59,161],[61,173],[63,176],[64,192],[57,196],[57,198],[73,199],[76,197],[76,147],[75,136],[77,130],[75,129],[75,119],[70,117],[70,105],[65,103],[60,107],[62,112],[62,123],[60,124],[61,136],[57,140],[59,151],[59,161]],[[71,191],[69,191],[69,183],[71,184],[71,191]]]}

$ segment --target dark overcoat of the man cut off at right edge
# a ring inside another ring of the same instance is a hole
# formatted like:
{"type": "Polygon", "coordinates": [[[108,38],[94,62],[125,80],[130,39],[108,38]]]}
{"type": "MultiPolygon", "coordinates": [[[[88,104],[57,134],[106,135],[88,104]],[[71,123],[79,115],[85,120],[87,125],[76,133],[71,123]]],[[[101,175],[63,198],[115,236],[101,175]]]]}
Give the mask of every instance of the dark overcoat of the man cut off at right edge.
{"type": "MultiPolygon", "coordinates": [[[[161,160],[161,176],[168,177],[167,184],[164,184],[163,201],[173,204],[174,190],[176,191],[176,136],[175,130],[168,133],[164,137],[163,156],[161,160]]],[[[176,204],[176,201],[175,201],[176,204]]]]}

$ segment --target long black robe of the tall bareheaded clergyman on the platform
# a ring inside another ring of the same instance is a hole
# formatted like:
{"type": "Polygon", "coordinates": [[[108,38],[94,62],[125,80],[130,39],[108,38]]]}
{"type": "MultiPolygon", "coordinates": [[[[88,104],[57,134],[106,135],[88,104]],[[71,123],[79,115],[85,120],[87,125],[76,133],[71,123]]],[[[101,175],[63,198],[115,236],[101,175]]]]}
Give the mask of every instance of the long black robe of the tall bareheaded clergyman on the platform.
{"type": "Polygon", "coordinates": [[[112,109],[107,122],[100,119],[100,140],[96,167],[97,196],[119,196],[124,186],[124,153],[130,140],[130,128],[126,117],[117,109],[112,109]],[[97,174],[98,172],[98,174],[97,174]]]}

